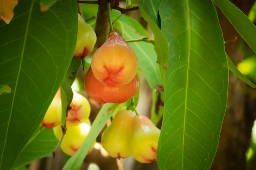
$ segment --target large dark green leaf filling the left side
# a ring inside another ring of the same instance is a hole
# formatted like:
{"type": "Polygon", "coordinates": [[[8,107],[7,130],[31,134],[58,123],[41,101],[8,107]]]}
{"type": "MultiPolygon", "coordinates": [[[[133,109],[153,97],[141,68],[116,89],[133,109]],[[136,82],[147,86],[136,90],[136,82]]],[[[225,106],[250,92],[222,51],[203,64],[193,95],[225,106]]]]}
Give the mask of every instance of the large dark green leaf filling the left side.
{"type": "Polygon", "coordinates": [[[9,25],[0,21],[0,169],[9,170],[38,128],[73,57],[76,0],[40,11],[39,0],[19,1],[9,25]]]}

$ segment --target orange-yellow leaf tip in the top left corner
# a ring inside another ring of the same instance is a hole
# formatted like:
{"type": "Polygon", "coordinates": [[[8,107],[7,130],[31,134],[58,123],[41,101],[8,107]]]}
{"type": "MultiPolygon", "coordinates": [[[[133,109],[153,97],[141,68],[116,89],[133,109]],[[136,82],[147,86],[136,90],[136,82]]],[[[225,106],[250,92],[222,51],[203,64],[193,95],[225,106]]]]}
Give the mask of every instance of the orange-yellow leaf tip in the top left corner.
{"type": "Polygon", "coordinates": [[[18,0],[0,0],[0,19],[9,24],[13,17],[13,9],[17,6],[18,0]]]}

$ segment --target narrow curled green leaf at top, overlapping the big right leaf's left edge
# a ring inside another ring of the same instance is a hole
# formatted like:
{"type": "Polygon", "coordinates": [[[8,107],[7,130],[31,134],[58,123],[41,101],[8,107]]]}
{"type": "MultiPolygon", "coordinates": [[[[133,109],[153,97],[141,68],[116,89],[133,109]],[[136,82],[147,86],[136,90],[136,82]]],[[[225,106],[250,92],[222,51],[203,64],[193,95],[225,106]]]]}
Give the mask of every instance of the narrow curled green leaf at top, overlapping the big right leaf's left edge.
{"type": "Polygon", "coordinates": [[[168,43],[163,35],[163,32],[158,27],[158,9],[160,2],[161,1],[159,0],[151,0],[151,3],[148,3],[147,0],[140,0],[138,5],[140,7],[141,16],[148,22],[149,27],[154,33],[154,48],[157,52],[157,63],[160,64],[164,69],[167,69],[169,56],[168,43]]]}

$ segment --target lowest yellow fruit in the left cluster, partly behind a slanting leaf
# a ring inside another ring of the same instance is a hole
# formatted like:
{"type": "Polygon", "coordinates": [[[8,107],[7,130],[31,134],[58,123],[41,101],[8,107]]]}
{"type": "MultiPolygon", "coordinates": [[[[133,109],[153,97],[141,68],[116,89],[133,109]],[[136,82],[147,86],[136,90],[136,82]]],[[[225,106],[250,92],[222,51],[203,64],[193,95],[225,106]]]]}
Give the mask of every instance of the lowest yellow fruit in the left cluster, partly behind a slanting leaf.
{"type": "MultiPolygon", "coordinates": [[[[69,156],[73,156],[77,150],[81,147],[82,143],[84,142],[85,138],[87,137],[90,130],[90,125],[87,123],[81,123],[79,125],[67,125],[66,134],[61,142],[61,150],[69,156]]],[[[57,139],[61,138],[62,130],[60,125],[53,128],[53,132],[57,139]]],[[[89,154],[96,140],[94,141],[93,145],[91,146],[90,150],[87,154],[89,154]]]]}

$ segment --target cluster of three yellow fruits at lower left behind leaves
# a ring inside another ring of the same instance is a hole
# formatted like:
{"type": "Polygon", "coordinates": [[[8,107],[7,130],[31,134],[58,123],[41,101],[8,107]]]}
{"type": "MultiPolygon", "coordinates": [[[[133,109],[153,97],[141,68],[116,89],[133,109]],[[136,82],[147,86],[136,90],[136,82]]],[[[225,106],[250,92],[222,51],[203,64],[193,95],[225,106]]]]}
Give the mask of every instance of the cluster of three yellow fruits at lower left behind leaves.
{"type": "MultiPolygon", "coordinates": [[[[60,145],[61,150],[69,156],[72,156],[79,150],[91,126],[90,120],[88,119],[90,116],[90,104],[88,100],[81,94],[73,93],[72,108],[66,117],[67,130],[60,145]]],[[[46,128],[52,128],[57,139],[61,139],[62,136],[60,125],[61,113],[61,94],[60,90],[58,90],[40,125],[46,128]]],[[[93,149],[93,145],[88,153],[93,149]]]]}

